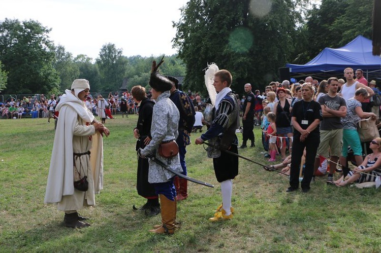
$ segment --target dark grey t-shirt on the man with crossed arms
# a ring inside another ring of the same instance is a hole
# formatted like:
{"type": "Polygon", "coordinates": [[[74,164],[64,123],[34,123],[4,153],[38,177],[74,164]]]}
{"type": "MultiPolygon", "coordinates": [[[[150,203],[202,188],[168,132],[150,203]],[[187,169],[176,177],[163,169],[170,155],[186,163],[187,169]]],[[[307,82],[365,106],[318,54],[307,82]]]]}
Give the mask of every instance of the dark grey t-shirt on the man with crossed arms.
{"type": "MultiPolygon", "coordinates": [[[[321,105],[327,106],[329,109],[338,111],[341,106],[346,106],[344,98],[336,95],[330,97],[328,94],[324,94],[318,101],[321,105]]],[[[343,128],[340,117],[324,117],[320,123],[320,130],[333,130],[343,128]]]]}

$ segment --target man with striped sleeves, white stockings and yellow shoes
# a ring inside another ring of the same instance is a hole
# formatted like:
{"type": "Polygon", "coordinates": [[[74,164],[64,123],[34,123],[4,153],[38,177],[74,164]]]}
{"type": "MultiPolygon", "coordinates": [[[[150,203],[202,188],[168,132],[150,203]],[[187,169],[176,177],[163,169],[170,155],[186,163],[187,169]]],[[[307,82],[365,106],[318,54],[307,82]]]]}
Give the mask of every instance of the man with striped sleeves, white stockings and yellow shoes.
{"type": "Polygon", "coordinates": [[[214,120],[208,131],[196,139],[196,144],[209,140],[209,143],[214,145],[214,148],[208,147],[207,151],[208,157],[213,158],[215,176],[221,184],[223,204],[217,208],[214,216],[209,220],[224,221],[233,218],[234,209],[231,206],[233,179],[238,175],[238,157],[224,153],[224,150],[238,154],[238,139],[235,130],[239,124],[239,107],[235,95],[229,88],[231,85],[229,71],[219,70],[215,75],[214,86],[219,93],[215,98],[214,120]],[[230,82],[220,78],[217,79],[217,74],[221,73],[221,71],[225,74],[228,73],[230,82]]]}

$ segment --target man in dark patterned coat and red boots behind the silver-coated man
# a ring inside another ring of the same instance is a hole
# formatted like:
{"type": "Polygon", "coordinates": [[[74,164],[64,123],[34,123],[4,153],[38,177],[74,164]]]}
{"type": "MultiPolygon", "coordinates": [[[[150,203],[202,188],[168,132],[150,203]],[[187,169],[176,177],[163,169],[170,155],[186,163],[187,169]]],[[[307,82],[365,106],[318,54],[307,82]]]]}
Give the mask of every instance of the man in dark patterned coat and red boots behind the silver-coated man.
{"type": "MultiPolygon", "coordinates": [[[[171,96],[169,97],[176,105],[180,113],[179,121],[179,136],[176,139],[179,146],[180,164],[182,167],[182,174],[187,175],[185,154],[186,146],[190,144],[190,132],[192,132],[193,125],[195,124],[195,107],[192,100],[184,92],[178,89],[178,79],[174,77],[167,77],[174,83],[174,87],[171,89],[171,96]]],[[[177,201],[186,199],[188,197],[188,180],[184,178],[175,177],[175,187],[177,201]]]]}

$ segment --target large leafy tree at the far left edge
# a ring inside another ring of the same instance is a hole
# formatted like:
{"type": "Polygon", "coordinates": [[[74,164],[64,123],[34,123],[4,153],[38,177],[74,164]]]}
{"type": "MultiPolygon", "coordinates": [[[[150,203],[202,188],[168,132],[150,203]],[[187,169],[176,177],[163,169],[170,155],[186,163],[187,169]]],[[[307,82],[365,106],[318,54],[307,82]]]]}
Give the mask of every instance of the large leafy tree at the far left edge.
{"type": "Polygon", "coordinates": [[[58,87],[50,30],[34,20],[0,23],[0,61],[9,73],[5,93],[47,93],[58,87]]]}

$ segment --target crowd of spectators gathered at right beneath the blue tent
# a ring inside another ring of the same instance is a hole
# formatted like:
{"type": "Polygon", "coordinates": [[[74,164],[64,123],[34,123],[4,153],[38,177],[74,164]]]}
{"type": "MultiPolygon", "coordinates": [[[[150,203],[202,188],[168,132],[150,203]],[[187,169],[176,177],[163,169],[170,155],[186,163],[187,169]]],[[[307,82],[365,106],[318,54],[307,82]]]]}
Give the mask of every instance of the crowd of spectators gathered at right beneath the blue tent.
{"type": "MultiPolygon", "coordinates": [[[[367,165],[364,165],[363,157],[369,154],[369,150],[364,149],[364,147],[369,146],[369,143],[360,143],[360,137],[357,133],[357,124],[360,119],[364,118],[371,118],[372,120],[376,120],[377,123],[379,122],[380,105],[373,101],[375,101],[375,96],[381,95],[381,92],[376,88],[376,82],[374,80],[368,82],[362,76],[361,69],[353,71],[352,68],[346,68],[344,70],[344,77],[346,81],[332,77],[319,82],[313,80],[311,77],[307,77],[305,80],[299,80],[292,84],[288,82],[271,82],[262,94],[258,91],[255,92],[256,125],[260,122],[263,131],[262,142],[265,152],[262,152],[262,155],[269,158],[269,161],[276,161],[273,153],[275,152],[279,154],[281,158],[281,164],[275,165],[274,168],[287,169],[291,167],[290,156],[293,154],[293,135],[295,133],[292,120],[293,117],[296,117],[293,115],[293,107],[297,101],[303,100],[303,84],[311,85],[313,88],[312,100],[319,102],[322,107],[322,120],[320,121],[321,141],[317,152],[314,154],[316,157],[314,165],[310,166],[313,167],[310,169],[313,170],[314,175],[323,176],[328,174],[327,184],[343,186],[346,183],[343,183],[342,179],[333,180],[335,171],[341,170],[340,167],[336,167],[336,164],[348,166],[348,160],[350,160],[355,166],[367,165]],[[355,73],[357,74],[356,78],[355,73]],[[339,98],[341,100],[339,100],[339,98]],[[333,106],[333,104],[335,105],[333,106]],[[334,125],[335,127],[332,128],[331,126],[334,125]],[[281,131],[279,132],[279,130],[281,131]],[[274,148],[274,145],[276,145],[276,148],[274,148]],[[286,153],[290,156],[286,157],[286,153]],[[324,166],[326,169],[321,169],[324,166]]],[[[244,104],[248,95],[249,93],[242,97],[241,104],[244,104]]],[[[304,108],[304,111],[307,112],[308,108],[304,108]]],[[[244,108],[242,108],[242,113],[244,113],[244,108]]],[[[305,124],[311,123],[305,122],[305,124]]],[[[371,144],[373,145],[371,146],[371,151],[373,152],[376,150],[375,146],[381,148],[378,139],[371,144]]],[[[306,169],[304,161],[300,161],[301,175],[306,169]]],[[[362,167],[362,169],[364,168],[362,167]]],[[[370,166],[369,168],[370,169],[366,169],[365,171],[372,176],[361,176],[361,178],[374,181],[376,176],[381,173],[374,167],[370,166]]],[[[361,169],[357,169],[356,171],[359,170],[361,171],[361,169]]],[[[357,177],[355,178],[358,179],[360,177],[358,175],[359,172],[356,173],[357,177]]],[[[350,180],[351,183],[355,181],[352,178],[350,180]]],[[[362,179],[359,182],[364,182],[364,180],[362,179]]],[[[292,187],[288,189],[288,191],[294,190],[292,187]]],[[[307,189],[302,190],[307,192],[309,185],[307,189]]]]}

